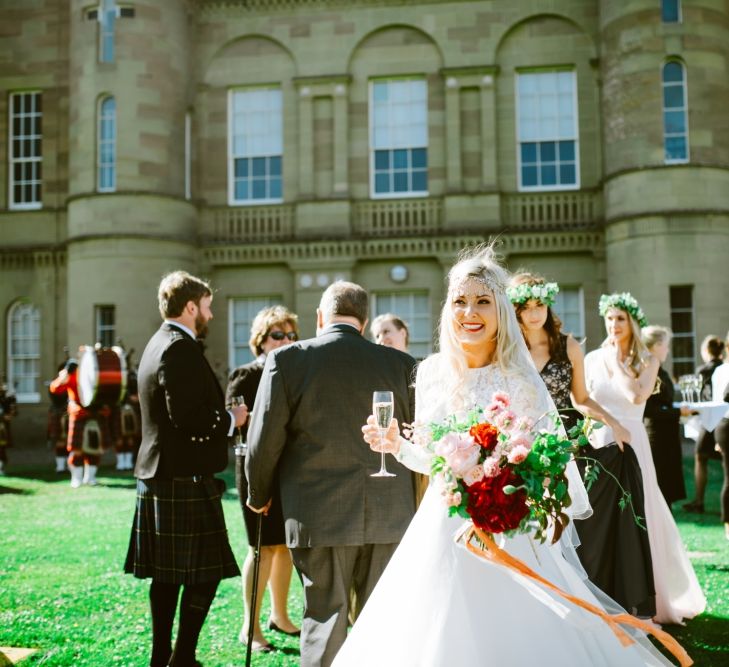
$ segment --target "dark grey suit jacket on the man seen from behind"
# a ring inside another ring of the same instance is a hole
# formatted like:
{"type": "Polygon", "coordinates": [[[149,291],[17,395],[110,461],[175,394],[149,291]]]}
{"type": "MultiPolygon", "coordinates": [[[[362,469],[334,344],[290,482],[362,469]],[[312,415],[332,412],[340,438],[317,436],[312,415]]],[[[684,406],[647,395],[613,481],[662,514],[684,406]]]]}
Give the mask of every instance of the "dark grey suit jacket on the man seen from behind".
{"type": "Polygon", "coordinates": [[[379,453],[362,439],[372,392],[390,390],[395,417],[412,422],[415,361],[335,324],[266,358],[248,428],[249,502],[270,498],[278,468],[289,547],[399,542],[415,511],[412,473],[370,477],[379,453]]]}

